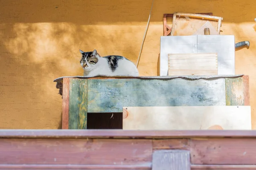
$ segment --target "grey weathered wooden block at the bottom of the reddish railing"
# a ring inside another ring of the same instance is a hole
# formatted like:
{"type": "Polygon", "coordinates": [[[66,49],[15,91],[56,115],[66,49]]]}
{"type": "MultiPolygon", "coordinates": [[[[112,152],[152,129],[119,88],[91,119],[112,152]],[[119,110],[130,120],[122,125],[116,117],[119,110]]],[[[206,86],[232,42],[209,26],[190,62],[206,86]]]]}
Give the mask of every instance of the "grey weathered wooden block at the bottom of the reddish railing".
{"type": "Polygon", "coordinates": [[[152,170],[190,170],[188,150],[155,150],[152,170]]]}

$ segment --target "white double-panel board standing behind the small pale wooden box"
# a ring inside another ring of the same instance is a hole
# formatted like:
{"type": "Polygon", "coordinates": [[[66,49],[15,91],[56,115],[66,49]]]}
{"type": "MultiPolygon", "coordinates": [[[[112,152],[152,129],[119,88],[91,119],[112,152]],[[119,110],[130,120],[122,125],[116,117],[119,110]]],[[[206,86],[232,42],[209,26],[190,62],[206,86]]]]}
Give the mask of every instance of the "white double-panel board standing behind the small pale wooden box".
{"type": "Polygon", "coordinates": [[[168,54],[217,53],[218,75],[235,74],[233,35],[189,35],[160,37],[160,76],[168,76],[168,54]]]}

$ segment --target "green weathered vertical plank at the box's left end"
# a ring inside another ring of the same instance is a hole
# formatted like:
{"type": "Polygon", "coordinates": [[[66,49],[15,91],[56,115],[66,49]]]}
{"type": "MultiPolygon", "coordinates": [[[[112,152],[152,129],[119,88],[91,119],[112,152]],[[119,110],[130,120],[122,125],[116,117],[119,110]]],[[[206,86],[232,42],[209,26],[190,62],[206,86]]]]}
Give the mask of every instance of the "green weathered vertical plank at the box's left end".
{"type": "Polygon", "coordinates": [[[70,79],[69,129],[87,128],[87,79],[70,79]]]}

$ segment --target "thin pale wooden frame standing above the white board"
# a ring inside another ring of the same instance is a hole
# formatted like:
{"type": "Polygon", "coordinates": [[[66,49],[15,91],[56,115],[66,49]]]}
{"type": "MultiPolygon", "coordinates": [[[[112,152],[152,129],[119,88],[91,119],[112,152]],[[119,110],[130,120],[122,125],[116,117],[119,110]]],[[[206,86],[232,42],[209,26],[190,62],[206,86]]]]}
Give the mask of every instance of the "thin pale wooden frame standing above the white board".
{"type": "Polygon", "coordinates": [[[215,17],[215,16],[210,16],[210,15],[202,15],[202,14],[189,14],[189,13],[174,13],[173,14],[173,20],[172,20],[172,31],[171,31],[171,36],[174,36],[174,31],[175,31],[175,22],[176,22],[176,16],[183,16],[183,17],[193,17],[193,18],[201,18],[201,19],[207,19],[207,20],[218,20],[218,28],[217,32],[220,34],[221,31],[221,20],[223,20],[222,17],[215,17]]]}

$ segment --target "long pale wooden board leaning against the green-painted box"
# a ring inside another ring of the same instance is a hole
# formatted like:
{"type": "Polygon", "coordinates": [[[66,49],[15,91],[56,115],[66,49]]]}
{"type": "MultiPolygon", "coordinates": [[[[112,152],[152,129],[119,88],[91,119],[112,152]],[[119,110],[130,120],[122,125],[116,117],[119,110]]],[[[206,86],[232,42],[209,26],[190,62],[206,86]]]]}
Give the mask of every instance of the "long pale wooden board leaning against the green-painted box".
{"type": "Polygon", "coordinates": [[[250,106],[124,107],[123,130],[251,130],[250,106]]]}

